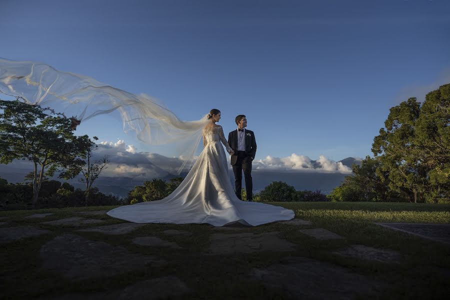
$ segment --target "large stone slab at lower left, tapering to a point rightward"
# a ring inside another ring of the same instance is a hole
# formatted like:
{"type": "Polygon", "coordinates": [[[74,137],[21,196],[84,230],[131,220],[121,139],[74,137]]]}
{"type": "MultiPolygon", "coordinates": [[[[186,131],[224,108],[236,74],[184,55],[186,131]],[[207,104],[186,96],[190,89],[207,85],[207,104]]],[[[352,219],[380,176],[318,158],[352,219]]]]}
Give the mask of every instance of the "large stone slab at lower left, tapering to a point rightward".
{"type": "Polygon", "coordinates": [[[163,259],[133,253],[120,246],[63,234],[40,248],[42,267],[70,279],[105,277],[139,270],[146,264],[161,266],[163,259]]]}

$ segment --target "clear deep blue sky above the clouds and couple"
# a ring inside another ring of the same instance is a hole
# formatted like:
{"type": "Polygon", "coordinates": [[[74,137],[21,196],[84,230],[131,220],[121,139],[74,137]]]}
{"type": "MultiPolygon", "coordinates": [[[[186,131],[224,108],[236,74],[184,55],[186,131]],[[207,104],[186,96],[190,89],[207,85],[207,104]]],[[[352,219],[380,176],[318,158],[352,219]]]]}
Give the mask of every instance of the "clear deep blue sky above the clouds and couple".
{"type": "MultiPolygon", "coordinates": [[[[247,115],[256,159],[371,154],[389,108],[450,83],[450,2],[0,0],[0,57],[147,93],[181,119],[247,115]]],[[[124,140],[115,115],[77,134],[124,140]]]]}

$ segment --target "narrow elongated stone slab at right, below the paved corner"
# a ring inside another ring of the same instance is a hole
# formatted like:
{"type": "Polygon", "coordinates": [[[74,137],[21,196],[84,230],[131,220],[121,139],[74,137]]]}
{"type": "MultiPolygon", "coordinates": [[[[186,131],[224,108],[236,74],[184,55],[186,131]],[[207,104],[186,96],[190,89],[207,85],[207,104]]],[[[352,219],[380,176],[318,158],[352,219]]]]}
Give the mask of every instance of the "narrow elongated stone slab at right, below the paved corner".
{"type": "Polygon", "coordinates": [[[350,245],[349,247],[339,249],[332,253],[386,263],[396,263],[401,260],[401,255],[397,251],[391,249],[378,249],[365,245],[350,245]]]}

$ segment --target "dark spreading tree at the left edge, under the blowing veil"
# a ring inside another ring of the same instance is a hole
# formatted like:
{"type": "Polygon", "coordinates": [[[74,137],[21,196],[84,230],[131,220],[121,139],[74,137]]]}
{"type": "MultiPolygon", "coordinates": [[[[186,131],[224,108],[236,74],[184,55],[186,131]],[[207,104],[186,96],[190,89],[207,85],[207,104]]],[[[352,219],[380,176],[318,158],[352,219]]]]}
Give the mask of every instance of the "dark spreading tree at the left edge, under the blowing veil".
{"type": "Polygon", "coordinates": [[[21,101],[0,100],[0,163],[28,159],[34,164],[33,200],[35,207],[44,175],[69,179],[79,173],[84,161],[86,136],[75,136],[71,120],[51,109],[21,101]],[[45,111],[48,111],[45,113],[45,111]],[[40,169],[38,169],[38,166],[40,169]]]}

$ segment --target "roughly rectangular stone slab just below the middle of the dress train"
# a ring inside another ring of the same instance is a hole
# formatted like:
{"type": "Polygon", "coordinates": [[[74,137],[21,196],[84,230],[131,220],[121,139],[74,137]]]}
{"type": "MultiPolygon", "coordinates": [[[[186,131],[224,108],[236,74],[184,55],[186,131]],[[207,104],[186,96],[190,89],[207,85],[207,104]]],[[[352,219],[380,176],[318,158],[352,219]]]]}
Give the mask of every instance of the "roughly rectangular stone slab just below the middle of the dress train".
{"type": "Polygon", "coordinates": [[[210,236],[212,254],[251,253],[259,251],[293,251],[296,245],[278,237],[279,232],[214,233],[210,236]]]}

